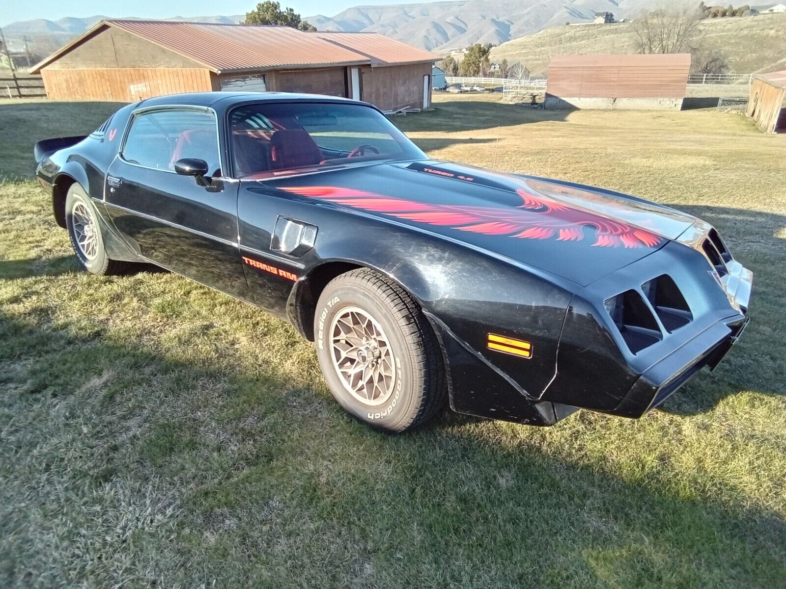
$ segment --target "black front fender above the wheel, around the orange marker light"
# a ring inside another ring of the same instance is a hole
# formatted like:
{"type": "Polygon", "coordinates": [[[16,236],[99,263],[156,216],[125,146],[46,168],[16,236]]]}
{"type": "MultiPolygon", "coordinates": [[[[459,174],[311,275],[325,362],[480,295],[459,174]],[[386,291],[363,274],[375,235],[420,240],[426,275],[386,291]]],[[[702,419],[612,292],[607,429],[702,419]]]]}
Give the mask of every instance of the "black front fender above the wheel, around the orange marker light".
{"type": "MultiPolygon", "coordinates": [[[[301,287],[300,294],[309,291],[310,277],[324,265],[376,269],[401,284],[435,328],[456,411],[549,421],[534,405],[556,372],[557,344],[572,296],[568,287],[537,269],[409,226],[358,215],[351,238],[346,226],[346,220],[323,219],[314,252],[320,263],[310,268],[296,293],[301,287]],[[490,334],[527,342],[531,354],[491,349],[490,334]]],[[[553,417],[548,405],[545,411],[553,417]]]]}

